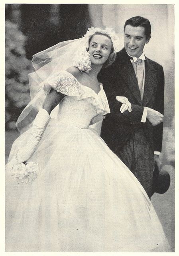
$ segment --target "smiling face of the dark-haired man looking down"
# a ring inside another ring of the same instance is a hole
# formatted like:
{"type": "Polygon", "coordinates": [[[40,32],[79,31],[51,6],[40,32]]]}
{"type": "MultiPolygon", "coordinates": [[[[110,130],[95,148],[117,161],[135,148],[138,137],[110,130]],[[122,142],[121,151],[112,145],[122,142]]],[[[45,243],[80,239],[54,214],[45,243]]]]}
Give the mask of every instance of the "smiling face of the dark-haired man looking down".
{"type": "Polygon", "coordinates": [[[127,25],[124,30],[124,47],[132,57],[139,58],[143,52],[145,44],[148,44],[145,28],[127,25]]]}

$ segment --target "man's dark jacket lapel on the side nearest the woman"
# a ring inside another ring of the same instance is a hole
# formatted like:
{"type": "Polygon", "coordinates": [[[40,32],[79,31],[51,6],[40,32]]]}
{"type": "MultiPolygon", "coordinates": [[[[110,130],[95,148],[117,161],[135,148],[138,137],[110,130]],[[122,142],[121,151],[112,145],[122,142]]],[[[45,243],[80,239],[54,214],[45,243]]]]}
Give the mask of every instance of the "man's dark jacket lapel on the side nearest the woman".
{"type": "Polygon", "coordinates": [[[132,94],[138,101],[140,105],[142,105],[140,90],[138,86],[138,81],[136,78],[136,74],[134,72],[134,68],[130,61],[128,54],[126,53],[125,48],[122,49],[122,55],[119,56],[119,65],[118,65],[118,72],[126,81],[128,88],[131,90],[132,94]]]}

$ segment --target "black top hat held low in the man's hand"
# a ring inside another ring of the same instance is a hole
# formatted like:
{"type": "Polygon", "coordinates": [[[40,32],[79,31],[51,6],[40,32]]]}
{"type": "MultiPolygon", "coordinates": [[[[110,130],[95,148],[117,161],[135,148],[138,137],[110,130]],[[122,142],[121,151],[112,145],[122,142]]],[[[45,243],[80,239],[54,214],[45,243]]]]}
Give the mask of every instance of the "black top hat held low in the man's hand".
{"type": "Polygon", "coordinates": [[[164,194],[165,192],[167,192],[169,186],[170,186],[169,173],[163,169],[159,171],[159,168],[155,163],[154,171],[153,171],[153,184],[152,184],[151,196],[154,193],[164,194]]]}

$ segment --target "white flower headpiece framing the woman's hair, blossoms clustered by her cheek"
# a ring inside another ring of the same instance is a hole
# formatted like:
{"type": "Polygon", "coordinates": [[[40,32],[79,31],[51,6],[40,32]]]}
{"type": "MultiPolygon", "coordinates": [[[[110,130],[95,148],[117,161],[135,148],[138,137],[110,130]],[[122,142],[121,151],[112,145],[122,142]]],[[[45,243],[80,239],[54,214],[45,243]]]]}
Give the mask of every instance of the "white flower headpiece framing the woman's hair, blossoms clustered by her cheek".
{"type": "Polygon", "coordinates": [[[86,73],[91,70],[91,61],[90,61],[90,56],[89,52],[87,52],[87,49],[89,47],[89,38],[96,32],[103,32],[105,34],[108,34],[111,38],[113,48],[114,48],[114,53],[118,52],[118,47],[120,45],[119,39],[116,36],[116,33],[112,28],[106,28],[106,29],[101,29],[101,28],[94,28],[91,27],[87,30],[86,34],[84,35],[84,44],[82,45],[83,50],[78,52],[77,54],[77,62],[75,62],[75,66],[80,70],[84,71],[86,73]]]}

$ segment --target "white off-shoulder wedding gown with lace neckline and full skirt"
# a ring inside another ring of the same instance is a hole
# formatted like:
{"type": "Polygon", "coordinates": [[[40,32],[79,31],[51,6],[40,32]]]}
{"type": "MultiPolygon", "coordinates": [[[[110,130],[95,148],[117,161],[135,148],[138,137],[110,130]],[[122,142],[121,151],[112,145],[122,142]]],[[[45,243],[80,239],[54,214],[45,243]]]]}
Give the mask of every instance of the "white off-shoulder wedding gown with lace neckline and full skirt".
{"type": "MultiPolygon", "coordinates": [[[[6,251],[169,251],[144,188],[89,128],[94,116],[110,112],[102,84],[96,94],[65,71],[51,86],[66,96],[30,158],[41,174],[24,184],[16,214],[6,220],[6,251]]],[[[14,142],[10,159],[29,132],[14,142]]],[[[10,198],[17,186],[14,180],[10,198]]]]}

